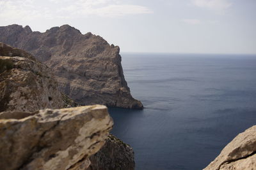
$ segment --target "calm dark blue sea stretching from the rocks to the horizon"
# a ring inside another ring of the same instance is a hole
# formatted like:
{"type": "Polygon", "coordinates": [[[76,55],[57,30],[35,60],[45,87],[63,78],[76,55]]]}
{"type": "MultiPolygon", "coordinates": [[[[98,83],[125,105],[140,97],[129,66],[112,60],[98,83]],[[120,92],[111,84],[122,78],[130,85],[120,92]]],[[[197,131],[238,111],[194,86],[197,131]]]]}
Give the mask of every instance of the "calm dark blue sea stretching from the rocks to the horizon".
{"type": "Polygon", "coordinates": [[[256,124],[256,56],[123,53],[144,110],[109,108],[136,169],[203,169],[256,124]]]}

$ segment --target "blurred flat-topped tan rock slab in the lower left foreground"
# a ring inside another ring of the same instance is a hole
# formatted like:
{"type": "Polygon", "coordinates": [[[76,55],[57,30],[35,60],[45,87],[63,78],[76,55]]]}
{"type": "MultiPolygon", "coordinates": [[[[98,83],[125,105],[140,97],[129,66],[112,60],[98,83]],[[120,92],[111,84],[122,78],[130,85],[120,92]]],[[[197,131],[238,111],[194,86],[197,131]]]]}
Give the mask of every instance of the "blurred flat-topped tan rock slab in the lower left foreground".
{"type": "Polygon", "coordinates": [[[102,105],[0,113],[0,167],[86,169],[113,126],[102,105]]]}

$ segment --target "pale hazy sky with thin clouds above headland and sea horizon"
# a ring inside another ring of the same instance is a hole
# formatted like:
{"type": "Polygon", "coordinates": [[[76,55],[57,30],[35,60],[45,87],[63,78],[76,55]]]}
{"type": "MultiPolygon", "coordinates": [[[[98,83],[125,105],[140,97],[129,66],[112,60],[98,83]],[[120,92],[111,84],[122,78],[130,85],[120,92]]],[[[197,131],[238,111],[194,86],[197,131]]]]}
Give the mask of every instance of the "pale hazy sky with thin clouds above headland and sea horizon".
{"type": "Polygon", "coordinates": [[[0,0],[10,24],[68,24],[121,52],[256,54],[256,0],[0,0]]]}

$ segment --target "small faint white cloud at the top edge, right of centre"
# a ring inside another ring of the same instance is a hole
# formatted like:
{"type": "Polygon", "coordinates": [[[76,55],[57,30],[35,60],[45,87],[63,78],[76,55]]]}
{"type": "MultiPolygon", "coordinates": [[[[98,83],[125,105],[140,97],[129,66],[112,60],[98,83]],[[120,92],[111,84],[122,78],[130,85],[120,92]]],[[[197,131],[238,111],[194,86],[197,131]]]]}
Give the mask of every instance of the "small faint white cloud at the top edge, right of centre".
{"type": "Polygon", "coordinates": [[[200,8],[207,8],[209,10],[215,10],[215,11],[225,11],[232,3],[230,3],[230,0],[191,0],[195,6],[198,6],[200,8]]]}

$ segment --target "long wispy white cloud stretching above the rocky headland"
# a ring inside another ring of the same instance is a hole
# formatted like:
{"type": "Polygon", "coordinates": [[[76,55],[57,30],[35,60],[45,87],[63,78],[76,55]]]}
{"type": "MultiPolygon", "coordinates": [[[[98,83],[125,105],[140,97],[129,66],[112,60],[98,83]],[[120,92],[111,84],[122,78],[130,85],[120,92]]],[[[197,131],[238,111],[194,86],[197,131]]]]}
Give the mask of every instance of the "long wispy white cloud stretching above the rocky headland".
{"type": "Polygon", "coordinates": [[[81,18],[92,15],[122,17],[152,13],[146,6],[123,4],[121,0],[1,0],[1,20],[81,18]],[[56,10],[58,9],[58,10],[56,10]]]}

